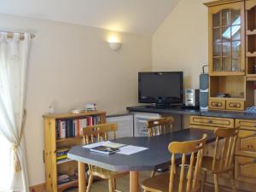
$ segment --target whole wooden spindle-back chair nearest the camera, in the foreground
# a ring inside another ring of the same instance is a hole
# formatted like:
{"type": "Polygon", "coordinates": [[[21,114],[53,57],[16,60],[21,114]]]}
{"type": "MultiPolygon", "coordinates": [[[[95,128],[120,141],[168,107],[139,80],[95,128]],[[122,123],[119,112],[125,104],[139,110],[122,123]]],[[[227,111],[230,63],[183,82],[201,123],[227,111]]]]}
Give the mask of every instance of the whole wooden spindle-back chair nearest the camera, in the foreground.
{"type": "Polygon", "coordinates": [[[199,140],[189,142],[172,142],[169,151],[172,153],[171,171],[143,181],[144,192],[195,192],[200,191],[200,173],[203,150],[207,134],[199,140]],[[189,155],[190,154],[190,155],[189,155]],[[176,158],[181,157],[181,168],[177,171],[176,158]],[[186,160],[187,159],[187,160],[186,160]],[[186,162],[189,169],[185,172],[186,162]]]}

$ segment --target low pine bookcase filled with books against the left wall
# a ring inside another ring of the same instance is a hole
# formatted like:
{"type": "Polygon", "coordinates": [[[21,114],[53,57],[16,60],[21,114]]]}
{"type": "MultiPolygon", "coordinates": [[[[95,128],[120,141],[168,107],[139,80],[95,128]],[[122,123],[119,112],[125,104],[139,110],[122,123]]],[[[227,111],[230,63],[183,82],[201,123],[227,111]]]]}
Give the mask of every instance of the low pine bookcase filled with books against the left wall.
{"type": "Polygon", "coordinates": [[[106,123],[106,112],[45,114],[43,118],[46,191],[62,192],[70,187],[78,186],[77,179],[58,185],[58,177],[77,174],[78,163],[68,159],[57,161],[57,153],[63,153],[58,155],[66,155],[68,148],[82,144],[81,128],[87,125],[106,123]],[[67,148],[67,150],[62,148],[67,148]]]}

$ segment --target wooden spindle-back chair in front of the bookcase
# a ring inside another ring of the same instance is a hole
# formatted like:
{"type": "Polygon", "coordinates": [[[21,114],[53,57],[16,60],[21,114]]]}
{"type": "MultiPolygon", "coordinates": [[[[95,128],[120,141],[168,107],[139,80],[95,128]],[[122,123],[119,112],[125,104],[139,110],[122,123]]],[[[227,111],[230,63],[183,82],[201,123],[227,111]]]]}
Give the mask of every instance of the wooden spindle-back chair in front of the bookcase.
{"type": "MultiPolygon", "coordinates": [[[[96,143],[101,141],[107,141],[109,135],[112,135],[112,139],[115,139],[115,131],[117,131],[117,124],[102,124],[102,125],[91,125],[83,128],[84,144],[96,143]]],[[[129,172],[111,172],[106,169],[102,169],[98,166],[89,166],[89,181],[87,186],[87,192],[90,192],[93,177],[101,177],[102,179],[108,179],[109,192],[116,190],[117,177],[123,177],[129,172]]]]}

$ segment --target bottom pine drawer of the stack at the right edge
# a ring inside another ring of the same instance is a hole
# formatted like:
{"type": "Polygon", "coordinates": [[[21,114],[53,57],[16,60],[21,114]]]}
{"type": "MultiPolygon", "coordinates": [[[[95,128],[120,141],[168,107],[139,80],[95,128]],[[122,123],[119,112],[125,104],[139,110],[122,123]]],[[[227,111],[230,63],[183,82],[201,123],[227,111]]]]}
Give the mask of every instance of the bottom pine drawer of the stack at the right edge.
{"type": "Polygon", "coordinates": [[[247,183],[256,183],[256,159],[236,156],[236,179],[247,183]]]}

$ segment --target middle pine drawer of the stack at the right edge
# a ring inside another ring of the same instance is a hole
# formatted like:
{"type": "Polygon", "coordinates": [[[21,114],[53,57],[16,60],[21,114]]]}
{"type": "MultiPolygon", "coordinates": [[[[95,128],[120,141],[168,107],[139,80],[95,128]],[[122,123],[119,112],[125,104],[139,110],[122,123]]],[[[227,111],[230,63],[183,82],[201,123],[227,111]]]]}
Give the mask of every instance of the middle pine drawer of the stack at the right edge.
{"type": "Polygon", "coordinates": [[[236,154],[256,158],[256,131],[240,130],[238,136],[236,154]]]}

